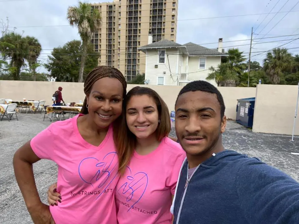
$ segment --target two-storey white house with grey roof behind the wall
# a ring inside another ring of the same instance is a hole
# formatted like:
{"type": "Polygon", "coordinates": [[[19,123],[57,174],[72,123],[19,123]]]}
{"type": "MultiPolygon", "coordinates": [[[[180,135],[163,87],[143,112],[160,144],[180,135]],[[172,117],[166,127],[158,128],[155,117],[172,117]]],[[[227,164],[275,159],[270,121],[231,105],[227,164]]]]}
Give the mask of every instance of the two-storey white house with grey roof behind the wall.
{"type": "MultiPolygon", "coordinates": [[[[222,50],[222,38],[218,51],[194,43],[178,44],[170,40],[160,40],[138,48],[145,55],[145,84],[185,86],[194,80],[206,80],[209,68],[218,67],[222,50]]],[[[214,80],[208,81],[217,86],[214,80]]]]}

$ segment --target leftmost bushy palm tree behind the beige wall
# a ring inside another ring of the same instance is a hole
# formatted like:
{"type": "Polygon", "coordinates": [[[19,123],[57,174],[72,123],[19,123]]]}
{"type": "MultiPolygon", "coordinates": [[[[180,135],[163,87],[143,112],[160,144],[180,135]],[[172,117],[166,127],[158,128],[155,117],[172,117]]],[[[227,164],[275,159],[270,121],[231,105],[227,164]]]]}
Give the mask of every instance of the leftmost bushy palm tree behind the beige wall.
{"type": "Polygon", "coordinates": [[[20,79],[21,68],[25,66],[25,60],[29,45],[24,37],[14,32],[6,33],[0,38],[0,42],[7,43],[2,49],[2,54],[10,59],[10,67],[13,80],[20,79]]]}

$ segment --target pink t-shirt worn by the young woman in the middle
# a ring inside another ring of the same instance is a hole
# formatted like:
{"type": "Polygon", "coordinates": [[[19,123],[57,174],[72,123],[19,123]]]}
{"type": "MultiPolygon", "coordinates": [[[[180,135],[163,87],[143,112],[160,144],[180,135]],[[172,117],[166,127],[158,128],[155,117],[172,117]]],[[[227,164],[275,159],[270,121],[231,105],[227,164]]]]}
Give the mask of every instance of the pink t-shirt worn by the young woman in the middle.
{"type": "Polygon", "coordinates": [[[185,157],[167,137],[148,155],[135,152],[115,189],[118,223],[172,223],[171,197],[185,157]]]}

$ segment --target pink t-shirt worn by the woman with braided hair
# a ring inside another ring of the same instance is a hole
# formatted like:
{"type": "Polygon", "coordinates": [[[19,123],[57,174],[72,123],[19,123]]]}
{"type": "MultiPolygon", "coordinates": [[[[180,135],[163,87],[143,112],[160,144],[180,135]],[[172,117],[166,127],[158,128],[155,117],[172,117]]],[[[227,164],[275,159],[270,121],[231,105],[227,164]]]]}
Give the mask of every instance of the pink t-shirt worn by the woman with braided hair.
{"type": "Polygon", "coordinates": [[[93,146],[79,133],[81,115],[52,123],[30,143],[39,158],[58,165],[62,203],[50,206],[50,212],[57,224],[116,224],[114,189],[119,175],[112,126],[103,142],[93,146]]]}

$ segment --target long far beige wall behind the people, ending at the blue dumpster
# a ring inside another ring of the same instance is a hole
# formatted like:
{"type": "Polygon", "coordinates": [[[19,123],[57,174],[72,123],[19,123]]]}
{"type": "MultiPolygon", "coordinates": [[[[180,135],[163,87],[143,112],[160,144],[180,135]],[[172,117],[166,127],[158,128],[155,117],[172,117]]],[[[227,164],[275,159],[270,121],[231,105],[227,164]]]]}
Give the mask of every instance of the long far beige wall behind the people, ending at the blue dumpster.
{"type": "MultiPolygon", "coordinates": [[[[47,105],[51,105],[53,93],[61,86],[62,96],[66,103],[79,102],[84,100],[83,83],[77,82],[32,82],[32,81],[2,81],[0,80],[0,99],[22,100],[46,100],[47,105]]],[[[128,85],[127,91],[138,85],[128,85]]],[[[147,85],[157,91],[168,105],[169,111],[174,110],[175,100],[183,86],[157,86],[147,85]]],[[[254,97],[255,88],[241,87],[219,87],[223,95],[226,116],[229,119],[236,117],[237,99],[254,97]]]]}

